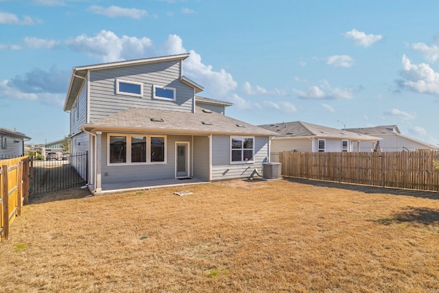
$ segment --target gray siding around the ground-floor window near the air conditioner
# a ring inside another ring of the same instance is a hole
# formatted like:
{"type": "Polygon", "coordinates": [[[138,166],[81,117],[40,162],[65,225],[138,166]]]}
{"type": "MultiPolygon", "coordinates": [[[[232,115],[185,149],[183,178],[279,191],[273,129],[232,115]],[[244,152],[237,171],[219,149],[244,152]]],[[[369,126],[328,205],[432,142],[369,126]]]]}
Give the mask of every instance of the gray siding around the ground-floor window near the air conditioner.
{"type": "Polygon", "coordinates": [[[212,180],[246,178],[268,161],[268,137],[254,138],[254,163],[230,164],[230,137],[212,137],[212,180]]]}

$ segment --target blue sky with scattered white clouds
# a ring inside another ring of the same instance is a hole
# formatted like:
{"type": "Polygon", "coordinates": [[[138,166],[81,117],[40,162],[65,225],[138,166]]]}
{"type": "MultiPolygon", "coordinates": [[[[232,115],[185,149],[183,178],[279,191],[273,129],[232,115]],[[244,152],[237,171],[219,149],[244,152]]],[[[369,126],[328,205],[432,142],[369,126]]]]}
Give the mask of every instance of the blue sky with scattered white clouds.
{"type": "Polygon", "coordinates": [[[251,124],[396,124],[439,144],[438,1],[0,0],[0,127],[69,134],[72,67],[190,52],[251,124]]]}

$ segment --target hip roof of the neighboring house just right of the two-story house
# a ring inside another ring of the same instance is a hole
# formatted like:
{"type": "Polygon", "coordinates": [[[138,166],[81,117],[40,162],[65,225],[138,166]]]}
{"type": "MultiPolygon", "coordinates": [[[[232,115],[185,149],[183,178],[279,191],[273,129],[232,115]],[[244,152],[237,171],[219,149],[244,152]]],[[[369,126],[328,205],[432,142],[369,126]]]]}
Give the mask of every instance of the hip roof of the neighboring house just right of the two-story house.
{"type": "Polygon", "coordinates": [[[278,124],[265,124],[260,127],[272,130],[278,134],[277,137],[316,137],[333,139],[350,139],[351,141],[377,141],[379,137],[372,137],[366,134],[359,134],[337,128],[320,126],[302,121],[283,122],[278,124]]]}

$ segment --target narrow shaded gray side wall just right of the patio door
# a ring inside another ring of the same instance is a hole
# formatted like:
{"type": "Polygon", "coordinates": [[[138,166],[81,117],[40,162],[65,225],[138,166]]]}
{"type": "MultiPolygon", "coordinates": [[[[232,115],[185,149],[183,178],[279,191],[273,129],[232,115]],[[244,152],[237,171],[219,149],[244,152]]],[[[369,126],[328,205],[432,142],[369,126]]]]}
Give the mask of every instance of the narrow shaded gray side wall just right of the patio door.
{"type": "Polygon", "coordinates": [[[209,137],[194,137],[193,154],[193,177],[209,180],[209,137]]]}

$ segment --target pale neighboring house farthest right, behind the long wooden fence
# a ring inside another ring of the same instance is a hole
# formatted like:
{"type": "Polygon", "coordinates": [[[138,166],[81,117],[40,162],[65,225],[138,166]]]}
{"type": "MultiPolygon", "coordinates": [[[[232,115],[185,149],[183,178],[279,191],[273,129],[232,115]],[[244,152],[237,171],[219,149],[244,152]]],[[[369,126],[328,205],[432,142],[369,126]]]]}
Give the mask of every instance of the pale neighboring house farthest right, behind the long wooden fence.
{"type": "MultiPolygon", "coordinates": [[[[396,125],[376,126],[368,128],[348,128],[349,131],[357,132],[365,135],[373,135],[381,137],[379,148],[382,152],[405,152],[416,150],[438,150],[438,146],[418,141],[407,137],[399,131],[396,125]]],[[[361,152],[370,151],[367,145],[360,144],[361,152]]]]}

